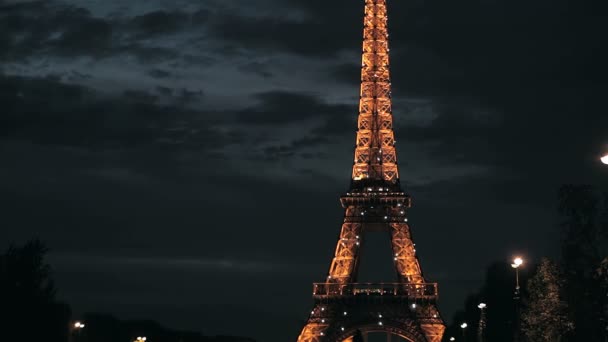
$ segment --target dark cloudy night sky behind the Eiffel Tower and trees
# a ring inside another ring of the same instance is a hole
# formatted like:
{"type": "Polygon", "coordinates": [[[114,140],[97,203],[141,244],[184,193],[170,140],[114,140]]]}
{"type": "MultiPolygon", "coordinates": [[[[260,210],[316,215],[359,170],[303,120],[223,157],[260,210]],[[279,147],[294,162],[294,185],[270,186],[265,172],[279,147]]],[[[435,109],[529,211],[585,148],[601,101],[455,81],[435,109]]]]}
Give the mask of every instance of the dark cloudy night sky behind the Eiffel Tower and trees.
{"type": "MultiPolygon", "coordinates": [[[[446,319],[490,262],[556,254],[560,184],[608,185],[607,13],[389,1],[401,183],[446,319]]],[[[0,0],[0,247],[43,239],[76,314],[294,341],[342,220],[362,18],[362,0],[0,0]]],[[[388,246],[372,236],[362,280],[388,246]]]]}

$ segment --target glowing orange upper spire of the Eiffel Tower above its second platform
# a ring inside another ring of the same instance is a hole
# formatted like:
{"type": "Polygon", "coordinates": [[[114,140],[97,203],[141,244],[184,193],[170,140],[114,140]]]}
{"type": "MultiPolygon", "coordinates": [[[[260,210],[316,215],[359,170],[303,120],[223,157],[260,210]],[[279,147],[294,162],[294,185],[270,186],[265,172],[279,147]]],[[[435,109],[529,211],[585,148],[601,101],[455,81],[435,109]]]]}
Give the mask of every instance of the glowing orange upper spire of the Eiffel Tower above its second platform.
{"type": "Polygon", "coordinates": [[[393,115],[386,0],[366,0],[361,93],[352,187],[399,182],[393,115]]]}

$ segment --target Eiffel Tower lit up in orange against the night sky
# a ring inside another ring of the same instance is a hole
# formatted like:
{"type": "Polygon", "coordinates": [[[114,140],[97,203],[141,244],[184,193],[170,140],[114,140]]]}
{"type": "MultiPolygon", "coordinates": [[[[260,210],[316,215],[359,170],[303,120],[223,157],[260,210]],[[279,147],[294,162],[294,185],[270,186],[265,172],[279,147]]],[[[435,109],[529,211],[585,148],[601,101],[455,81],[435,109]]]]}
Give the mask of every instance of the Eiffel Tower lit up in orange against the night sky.
{"type": "Polygon", "coordinates": [[[352,342],[357,331],[439,342],[445,325],[437,284],[424,279],[407,223],[411,198],[401,189],[391,102],[386,0],[365,0],[361,100],[351,188],[335,256],[298,342],[352,342]],[[357,283],[364,234],[388,232],[398,281],[357,283]]]}

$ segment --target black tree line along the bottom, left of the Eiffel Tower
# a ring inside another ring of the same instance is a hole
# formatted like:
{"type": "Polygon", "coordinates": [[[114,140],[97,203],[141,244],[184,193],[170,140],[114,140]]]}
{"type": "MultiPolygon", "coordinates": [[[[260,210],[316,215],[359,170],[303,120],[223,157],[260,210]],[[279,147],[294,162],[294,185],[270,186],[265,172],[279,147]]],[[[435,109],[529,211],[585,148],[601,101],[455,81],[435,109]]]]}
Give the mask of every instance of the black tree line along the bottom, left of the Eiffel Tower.
{"type": "Polygon", "coordinates": [[[11,245],[0,254],[0,342],[255,342],[246,337],[204,336],[177,331],[154,321],[121,321],[85,314],[85,328],[74,329],[69,305],[56,297],[48,249],[39,240],[11,245]]]}

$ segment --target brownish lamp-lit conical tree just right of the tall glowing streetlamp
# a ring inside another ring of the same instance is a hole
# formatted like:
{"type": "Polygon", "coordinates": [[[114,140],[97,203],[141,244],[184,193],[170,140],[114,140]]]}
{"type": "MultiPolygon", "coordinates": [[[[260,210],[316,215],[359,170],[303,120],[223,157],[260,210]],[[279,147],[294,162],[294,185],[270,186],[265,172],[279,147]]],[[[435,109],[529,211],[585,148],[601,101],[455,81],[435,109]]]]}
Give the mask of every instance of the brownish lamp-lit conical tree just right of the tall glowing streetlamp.
{"type": "Polygon", "coordinates": [[[522,312],[522,330],[529,341],[558,341],[574,324],[562,298],[563,281],[557,266],[543,258],[528,281],[528,299],[522,312]]]}

